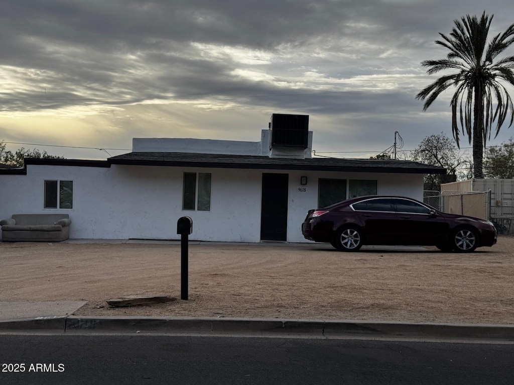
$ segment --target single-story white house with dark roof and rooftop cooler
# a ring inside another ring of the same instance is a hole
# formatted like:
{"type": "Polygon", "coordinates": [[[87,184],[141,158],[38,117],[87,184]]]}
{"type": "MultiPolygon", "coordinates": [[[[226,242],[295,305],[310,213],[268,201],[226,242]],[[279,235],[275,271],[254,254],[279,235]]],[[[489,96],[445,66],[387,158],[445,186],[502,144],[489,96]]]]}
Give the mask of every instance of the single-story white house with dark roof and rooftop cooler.
{"type": "Polygon", "coordinates": [[[404,160],[313,158],[308,115],[273,114],[259,142],[134,138],[106,161],[26,159],[0,170],[0,219],[67,213],[75,239],[307,242],[307,210],[349,197],[423,200],[423,175],[444,168],[404,160]]]}

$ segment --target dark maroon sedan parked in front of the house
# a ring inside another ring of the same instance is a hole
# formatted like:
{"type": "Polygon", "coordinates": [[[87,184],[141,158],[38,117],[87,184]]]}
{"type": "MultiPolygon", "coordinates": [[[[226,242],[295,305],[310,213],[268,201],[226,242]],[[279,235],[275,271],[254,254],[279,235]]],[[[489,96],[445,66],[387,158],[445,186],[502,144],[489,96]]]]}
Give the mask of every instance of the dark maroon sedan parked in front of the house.
{"type": "Polygon", "coordinates": [[[484,219],[442,213],[415,199],[369,196],[309,210],[306,239],[354,252],[362,245],[432,245],[443,251],[472,252],[496,243],[494,225],[484,219]]]}

